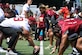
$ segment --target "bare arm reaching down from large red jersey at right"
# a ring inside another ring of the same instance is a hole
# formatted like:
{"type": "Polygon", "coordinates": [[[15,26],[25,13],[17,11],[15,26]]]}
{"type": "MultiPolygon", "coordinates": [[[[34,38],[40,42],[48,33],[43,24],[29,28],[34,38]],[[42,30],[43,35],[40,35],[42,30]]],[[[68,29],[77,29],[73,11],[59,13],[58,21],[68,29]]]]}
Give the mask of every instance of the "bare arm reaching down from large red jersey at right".
{"type": "Polygon", "coordinates": [[[60,43],[58,55],[63,55],[64,51],[66,50],[66,48],[68,46],[69,46],[69,43],[68,43],[68,35],[67,34],[64,34],[61,37],[61,43],[60,43]]]}

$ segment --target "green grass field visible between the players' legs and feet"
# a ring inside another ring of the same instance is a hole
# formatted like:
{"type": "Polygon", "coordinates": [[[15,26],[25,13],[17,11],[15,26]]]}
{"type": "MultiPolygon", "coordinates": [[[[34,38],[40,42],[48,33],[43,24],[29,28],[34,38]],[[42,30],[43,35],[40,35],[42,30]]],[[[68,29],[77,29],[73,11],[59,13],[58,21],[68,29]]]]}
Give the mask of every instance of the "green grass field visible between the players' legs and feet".
{"type": "MultiPolygon", "coordinates": [[[[35,41],[36,45],[40,45],[40,41],[35,41]]],[[[26,40],[18,40],[17,45],[16,45],[16,50],[19,52],[18,55],[32,55],[33,47],[28,46],[28,42],[26,40]]],[[[49,45],[49,41],[43,41],[43,51],[44,55],[57,55],[57,51],[54,54],[49,54],[50,49],[46,50],[45,47],[49,45]]],[[[7,48],[6,40],[3,41],[3,47],[7,48]]],[[[71,47],[69,47],[64,55],[68,55],[68,53],[71,52],[71,47]]],[[[5,55],[4,53],[0,53],[0,55],[5,55]]]]}

